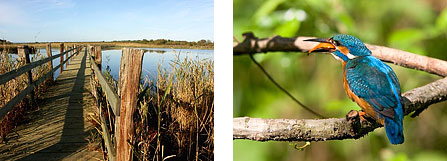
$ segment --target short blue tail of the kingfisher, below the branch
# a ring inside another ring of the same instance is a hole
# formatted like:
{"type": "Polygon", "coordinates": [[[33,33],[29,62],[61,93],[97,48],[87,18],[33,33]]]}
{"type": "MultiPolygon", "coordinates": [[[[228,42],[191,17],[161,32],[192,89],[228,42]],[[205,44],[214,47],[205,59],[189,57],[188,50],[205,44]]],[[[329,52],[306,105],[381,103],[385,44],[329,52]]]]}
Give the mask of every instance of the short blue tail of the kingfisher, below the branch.
{"type": "Polygon", "coordinates": [[[385,117],[385,131],[391,144],[402,144],[404,142],[402,118],[396,118],[394,120],[385,117]]]}

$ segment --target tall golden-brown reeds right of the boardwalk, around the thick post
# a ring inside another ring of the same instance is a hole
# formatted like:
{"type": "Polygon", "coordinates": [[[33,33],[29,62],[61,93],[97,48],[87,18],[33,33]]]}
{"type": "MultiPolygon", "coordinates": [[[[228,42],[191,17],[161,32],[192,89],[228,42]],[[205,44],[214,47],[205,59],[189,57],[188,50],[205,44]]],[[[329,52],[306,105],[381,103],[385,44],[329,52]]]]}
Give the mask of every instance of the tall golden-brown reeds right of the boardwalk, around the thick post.
{"type": "MultiPolygon", "coordinates": [[[[156,82],[147,77],[142,81],[134,114],[135,137],[130,141],[134,160],[214,160],[213,63],[177,57],[171,62],[172,71],[159,65],[156,82]]],[[[107,68],[104,75],[116,87],[107,68]]],[[[107,109],[103,111],[108,117],[107,109]]],[[[101,134],[99,115],[90,115],[97,117],[91,120],[101,134]]]]}

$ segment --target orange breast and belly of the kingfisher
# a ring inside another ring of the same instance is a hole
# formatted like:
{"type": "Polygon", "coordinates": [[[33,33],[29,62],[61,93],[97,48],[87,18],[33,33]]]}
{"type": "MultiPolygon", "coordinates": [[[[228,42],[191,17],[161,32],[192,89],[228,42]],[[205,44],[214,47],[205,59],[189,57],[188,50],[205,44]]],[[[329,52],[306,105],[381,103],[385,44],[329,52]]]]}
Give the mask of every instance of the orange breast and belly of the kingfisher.
{"type": "Polygon", "coordinates": [[[346,63],[343,62],[343,87],[345,88],[346,94],[348,95],[348,97],[357,103],[357,105],[359,105],[363,111],[369,116],[374,118],[377,122],[381,123],[382,125],[384,125],[384,119],[380,118],[379,115],[377,115],[376,111],[374,111],[374,107],[372,107],[368,102],[366,102],[364,99],[359,98],[356,94],[354,94],[354,92],[351,91],[351,89],[349,88],[349,84],[348,81],[346,79],[346,70],[345,70],[345,65],[346,63]]]}

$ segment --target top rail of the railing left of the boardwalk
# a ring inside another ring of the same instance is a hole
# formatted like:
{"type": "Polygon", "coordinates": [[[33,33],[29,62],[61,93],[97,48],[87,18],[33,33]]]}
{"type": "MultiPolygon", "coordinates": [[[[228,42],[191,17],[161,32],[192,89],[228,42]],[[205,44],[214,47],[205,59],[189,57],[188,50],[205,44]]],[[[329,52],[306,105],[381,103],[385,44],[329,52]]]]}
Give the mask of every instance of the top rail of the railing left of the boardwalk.
{"type": "MultiPolygon", "coordinates": [[[[68,52],[68,51],[66,51],[66,52],[68,52]]],[[[37,66],[40,66],[48,61],[52,61],[53,59],[56,59],[63,54],[65,54],[65,53],[57,54],[57,55],[51,56],[49,58],[45,58],[45,59],[42,59],[39,61],[32,62],[32,63],[27,64],[27,65],[20,67],[18,69],[14,69],[8,73],[2,74],[2,75],[0,75],[0,85],[8,82],[11,79],[14,79],[15,77],[22,75],[25,72],[28,72],[29,70],[31,70],[37,66]]]]}

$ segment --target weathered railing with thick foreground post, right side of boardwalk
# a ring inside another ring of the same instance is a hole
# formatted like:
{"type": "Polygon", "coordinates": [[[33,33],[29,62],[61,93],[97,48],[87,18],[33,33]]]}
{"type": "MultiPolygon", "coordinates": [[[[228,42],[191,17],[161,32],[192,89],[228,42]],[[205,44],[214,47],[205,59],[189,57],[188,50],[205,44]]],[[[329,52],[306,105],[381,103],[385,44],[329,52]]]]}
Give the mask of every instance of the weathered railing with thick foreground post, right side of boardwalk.
{"type": "Polygon", "coordinates": [[[107,103],[110,105],[110,108],[107,105],[104,106],[109,113],[109,121],[107,124],[103,105],[99,98],[97,98],[107,157],[111,161],[131,160],[132,152],[127,140],[132,137],[130,135],[134,132],[133,113],[137,106],[138,86],[144,50],[122,49],[118,80],[118,93],[121,97],[113,90],[112,86],[102,74],[101,69],[98,67],[101,65],[101,48],[98,46],[88,47],[88,51],[90,52],[86,54],[89,55],[91,69],[94,71],[95,78],[98,80],[102,89],[102,91],[96,91],[96,93],[101,98],[102,92],[104,92],[107,103]],[[111,118],[111,114],[115,118],[111,118]],[[114,124],[112,120],[115,120],[114,124]],[[114,134],[110,133],[111,129],[114,129],[114,134]]]}

